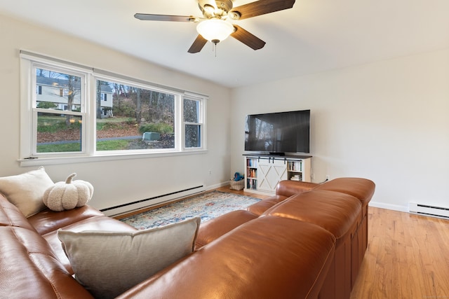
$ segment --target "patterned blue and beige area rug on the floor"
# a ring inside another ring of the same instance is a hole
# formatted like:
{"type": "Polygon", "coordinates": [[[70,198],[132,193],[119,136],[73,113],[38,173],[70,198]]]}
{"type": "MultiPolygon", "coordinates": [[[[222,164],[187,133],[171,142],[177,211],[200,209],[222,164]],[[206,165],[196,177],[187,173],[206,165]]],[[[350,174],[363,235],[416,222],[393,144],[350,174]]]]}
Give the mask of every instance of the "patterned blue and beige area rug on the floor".
{"type": "Polygon", "coordinates": [[[123,218],[121,221],[139,230],[176,223],[197,216],[201,217],[201,222],[205,222],[229,211],[246,209],[259,201],[260,199],[255,197],[211,191],[166,207],[123,218]]]}

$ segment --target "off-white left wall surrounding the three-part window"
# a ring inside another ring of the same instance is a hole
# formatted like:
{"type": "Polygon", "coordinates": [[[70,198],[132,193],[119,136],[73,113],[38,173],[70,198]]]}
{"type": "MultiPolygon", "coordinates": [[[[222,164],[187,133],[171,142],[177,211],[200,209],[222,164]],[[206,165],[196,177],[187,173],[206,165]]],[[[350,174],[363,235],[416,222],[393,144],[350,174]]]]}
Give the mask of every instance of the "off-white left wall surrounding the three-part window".
{"type": "MultiPolygon", "coordinates": [[[[27,172],[20,167],[19,50],[105,69],[161,85],[209,95],[208,152],[165,158],[48,165],[53,181],[72,172],[93,183],[91,204],[99,209],[182,190],[199,184],[211,188],[230,179],[230,90],[192,76],[158,67],[72,36],[0,15],[0,176],[27,172]],[[211,174],[209,174],[209,169],[211,174]]],[[[200,66],[199,66],[200,67],[200,66]]]]}

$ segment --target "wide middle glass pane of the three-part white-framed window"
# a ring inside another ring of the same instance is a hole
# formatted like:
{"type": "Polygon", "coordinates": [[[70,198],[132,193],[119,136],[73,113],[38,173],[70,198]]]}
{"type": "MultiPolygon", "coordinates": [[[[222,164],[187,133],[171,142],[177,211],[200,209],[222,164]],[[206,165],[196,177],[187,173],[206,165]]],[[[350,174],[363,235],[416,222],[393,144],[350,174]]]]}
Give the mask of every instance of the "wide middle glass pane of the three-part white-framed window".
{"type": "Polygon", "coordinates": [[[106,90],[111,92],[113,99],[105,103],[100,96],[97,101],[97,151],[176,149],[178,96],[174,92],[111,80],[97,80],[96,90],[98,95],[106,90]]]}

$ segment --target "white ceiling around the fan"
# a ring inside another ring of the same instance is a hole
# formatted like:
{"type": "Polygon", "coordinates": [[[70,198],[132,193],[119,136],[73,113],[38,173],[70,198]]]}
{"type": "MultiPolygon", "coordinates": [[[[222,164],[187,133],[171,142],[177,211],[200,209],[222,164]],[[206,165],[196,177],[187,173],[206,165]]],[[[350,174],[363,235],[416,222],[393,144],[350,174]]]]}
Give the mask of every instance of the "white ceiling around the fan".
{"type": "MultiPolygon", "coordinates": [[[[234,7],[252,2],[235,0],[234,7]]],[[[196,0],[0,0],[0,14],[52,27],[230,88],[449,48],[449,0],[296,0],[235,21],[267,44],[232,37],[187,50],[196,24],[134,13],[201,16],[196,0]]]]}

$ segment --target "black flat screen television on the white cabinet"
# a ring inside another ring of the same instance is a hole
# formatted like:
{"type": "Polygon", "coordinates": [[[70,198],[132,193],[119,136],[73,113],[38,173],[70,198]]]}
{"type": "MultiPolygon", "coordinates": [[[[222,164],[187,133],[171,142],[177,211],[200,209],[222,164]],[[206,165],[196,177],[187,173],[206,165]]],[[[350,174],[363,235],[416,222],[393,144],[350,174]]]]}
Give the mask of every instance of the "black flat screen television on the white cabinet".
{"type": "Polygon", "coordinates": [[[310,110],[246,116],[245,151],[309,153],[310,110]]]}

